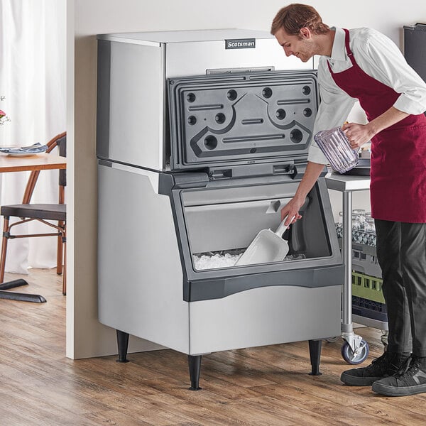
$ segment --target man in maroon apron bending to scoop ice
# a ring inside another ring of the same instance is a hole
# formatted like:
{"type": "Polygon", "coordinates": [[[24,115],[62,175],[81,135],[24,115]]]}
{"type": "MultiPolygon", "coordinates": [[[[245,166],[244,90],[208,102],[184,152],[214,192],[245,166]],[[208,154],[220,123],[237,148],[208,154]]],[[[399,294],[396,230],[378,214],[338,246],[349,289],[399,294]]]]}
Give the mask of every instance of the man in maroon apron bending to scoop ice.
{"type": "MultiPolygon", "coordinates": [[[[340,126],[356,99],[367,124],[344,124],[356,149],[371,140],[371,213],[388,309],[388,349],[364,368],[344,371],[350,386],[383,395],[426,392],[426,83],[397,46],[369,28],[329,28],[311,6],[278,11],[271,33],[285,55],[321,55],[321,103],[314,133],[340,126]]],[[[312,143],[304,177],[281,216],[299,209],[327,164],[312,143]]],[[[290,219],[286,219],[290,223],[290,219]]]]}

